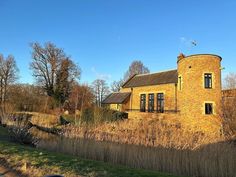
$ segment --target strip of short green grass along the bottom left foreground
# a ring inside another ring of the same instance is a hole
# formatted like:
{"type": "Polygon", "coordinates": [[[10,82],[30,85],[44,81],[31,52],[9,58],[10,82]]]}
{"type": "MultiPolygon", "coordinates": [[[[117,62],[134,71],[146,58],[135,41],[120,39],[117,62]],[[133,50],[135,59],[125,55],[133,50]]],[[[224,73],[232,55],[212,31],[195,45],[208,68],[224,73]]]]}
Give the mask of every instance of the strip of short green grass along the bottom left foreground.
{"type": "MultiPolygon", "coordinates": [[[[5,128],[0,126],[0,158],[6,159],[12,166],[21,166],[25,162],[28,170],[38,176],[59,173],[65,176],[91,177],[176,177],[154,171],[131,169],[109,163],[85,160],[74,156],[47,152],[3,140],[7,136],[5,128]]],[[[34,176],[37,176],[34,174],[34,176]]]]}

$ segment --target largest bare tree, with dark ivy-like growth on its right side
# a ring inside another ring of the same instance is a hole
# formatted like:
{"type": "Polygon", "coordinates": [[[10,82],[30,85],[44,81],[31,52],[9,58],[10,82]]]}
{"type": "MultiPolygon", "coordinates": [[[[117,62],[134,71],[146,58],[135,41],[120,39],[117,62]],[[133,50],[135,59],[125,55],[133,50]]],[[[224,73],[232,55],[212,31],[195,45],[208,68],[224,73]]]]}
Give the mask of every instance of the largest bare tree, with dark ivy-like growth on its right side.
{"type": "Polygon", "coordinates": [[[71,84],[80,78],[80,68],[68,57],[63,49],[53,43],[41,46],[31,44],[32,62],[30,68],[47,95],[55,98],[60,105],[68,98],[71,84]]]}

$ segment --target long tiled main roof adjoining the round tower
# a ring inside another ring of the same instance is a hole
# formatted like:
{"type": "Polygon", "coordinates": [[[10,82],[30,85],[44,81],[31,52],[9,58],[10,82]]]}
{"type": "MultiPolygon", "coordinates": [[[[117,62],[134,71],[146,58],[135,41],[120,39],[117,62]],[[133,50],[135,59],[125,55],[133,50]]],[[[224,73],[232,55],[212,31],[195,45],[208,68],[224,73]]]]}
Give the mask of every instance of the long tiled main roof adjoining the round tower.
{"type": "Polygon", "coordinates": [[[148,85],[160,85],[178,82],[177,70],[170,70],[152,74],[140,74],[130,78],[122,86],[123,88],[140,87],[148,85]]]}

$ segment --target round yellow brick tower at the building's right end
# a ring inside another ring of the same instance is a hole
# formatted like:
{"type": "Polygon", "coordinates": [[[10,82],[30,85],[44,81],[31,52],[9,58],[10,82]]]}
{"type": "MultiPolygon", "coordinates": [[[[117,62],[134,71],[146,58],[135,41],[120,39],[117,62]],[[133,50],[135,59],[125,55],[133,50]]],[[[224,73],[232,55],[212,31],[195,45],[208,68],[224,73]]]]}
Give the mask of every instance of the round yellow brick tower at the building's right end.
{"type": "Polygon", "coordinates": [[[219,117],[221,60],[210,54],[178,56],[177,109],[181,117],[219,117]]]}

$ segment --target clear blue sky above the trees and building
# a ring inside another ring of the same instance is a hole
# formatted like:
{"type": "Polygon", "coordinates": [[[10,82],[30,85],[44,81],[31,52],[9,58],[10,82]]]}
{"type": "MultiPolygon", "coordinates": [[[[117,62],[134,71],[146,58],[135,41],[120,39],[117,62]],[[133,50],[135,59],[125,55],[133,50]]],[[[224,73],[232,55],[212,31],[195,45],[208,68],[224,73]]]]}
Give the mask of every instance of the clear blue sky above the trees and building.
{"type": "Polygon", "coordinates": [[[82,69],[81,83],[119,80],[133,60],[175,69],[179,53],[223,58],[236,72],[235,0],[0,0],[0,53],[34,83],[30,43],[53,42],[82,69]],[[196,46],[192,45],[196,42],[196,46]]]}

